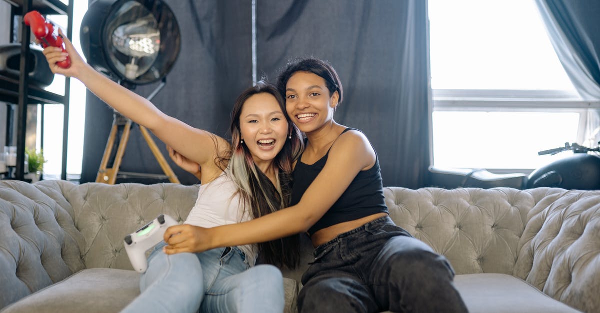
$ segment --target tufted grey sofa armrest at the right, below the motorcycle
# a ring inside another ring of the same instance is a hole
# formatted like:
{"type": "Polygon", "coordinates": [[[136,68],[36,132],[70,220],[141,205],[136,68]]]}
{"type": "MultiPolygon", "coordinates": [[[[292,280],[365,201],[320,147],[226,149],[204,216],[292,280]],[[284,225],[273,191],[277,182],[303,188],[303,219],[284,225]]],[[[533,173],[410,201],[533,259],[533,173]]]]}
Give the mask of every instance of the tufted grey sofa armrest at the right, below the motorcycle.
{"type": "Polygon", "coordinates": [[[600,308],[600,191],[535,188],[513,275],[584,312],[600,308]]]}

